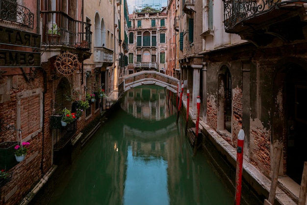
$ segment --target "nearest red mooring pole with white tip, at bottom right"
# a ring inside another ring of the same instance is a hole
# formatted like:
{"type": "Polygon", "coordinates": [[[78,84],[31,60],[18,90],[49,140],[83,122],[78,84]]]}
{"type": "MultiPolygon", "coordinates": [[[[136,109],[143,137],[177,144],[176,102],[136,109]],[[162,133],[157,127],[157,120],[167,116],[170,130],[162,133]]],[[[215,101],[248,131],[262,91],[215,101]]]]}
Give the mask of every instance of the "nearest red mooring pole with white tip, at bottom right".
{"type": "Polygon", "coordinates": [[[235,171],[235,205],[240,205],[241,201],[244,136],[244,131],[240,129],[238,134],[237,166],[235,171]]]}

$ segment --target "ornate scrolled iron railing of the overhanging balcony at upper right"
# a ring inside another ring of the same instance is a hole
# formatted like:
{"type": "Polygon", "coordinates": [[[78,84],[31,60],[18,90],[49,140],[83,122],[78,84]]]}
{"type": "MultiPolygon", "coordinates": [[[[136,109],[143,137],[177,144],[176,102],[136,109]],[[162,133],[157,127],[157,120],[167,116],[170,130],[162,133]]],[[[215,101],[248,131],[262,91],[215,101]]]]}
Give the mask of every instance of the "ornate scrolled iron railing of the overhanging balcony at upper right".
{"type": "Polygon", "coordinates": [[[280,3],[281,0],[224,0],[225,30],[233,29],[243,20],[267,12],[280,3]]]}

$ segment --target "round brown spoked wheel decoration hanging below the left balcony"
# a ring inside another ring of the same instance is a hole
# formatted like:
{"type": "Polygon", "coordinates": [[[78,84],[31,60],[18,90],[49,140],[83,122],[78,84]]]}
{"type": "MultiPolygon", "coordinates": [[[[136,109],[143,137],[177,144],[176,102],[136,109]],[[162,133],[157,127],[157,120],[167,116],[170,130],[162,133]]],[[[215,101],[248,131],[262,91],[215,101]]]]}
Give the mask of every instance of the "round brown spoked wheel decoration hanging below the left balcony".
{"type": "Polygon", "coordinates": [[[54,62],[57,72],[63,75],[72,75],[76,73],[79,66],[78,57],[68,51],[58,55],[54,62]]]}

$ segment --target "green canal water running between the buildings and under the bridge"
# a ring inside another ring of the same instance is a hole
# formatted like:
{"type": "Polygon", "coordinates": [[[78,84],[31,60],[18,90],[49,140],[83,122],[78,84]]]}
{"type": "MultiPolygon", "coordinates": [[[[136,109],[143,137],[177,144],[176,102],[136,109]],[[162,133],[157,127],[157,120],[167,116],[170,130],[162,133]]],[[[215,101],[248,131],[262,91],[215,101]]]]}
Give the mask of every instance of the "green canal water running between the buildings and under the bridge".
{"type": "Polygon", "coordinates": [[[160,87],[129,90],[63,171],[48,205],[233,205],[160,87]]]}

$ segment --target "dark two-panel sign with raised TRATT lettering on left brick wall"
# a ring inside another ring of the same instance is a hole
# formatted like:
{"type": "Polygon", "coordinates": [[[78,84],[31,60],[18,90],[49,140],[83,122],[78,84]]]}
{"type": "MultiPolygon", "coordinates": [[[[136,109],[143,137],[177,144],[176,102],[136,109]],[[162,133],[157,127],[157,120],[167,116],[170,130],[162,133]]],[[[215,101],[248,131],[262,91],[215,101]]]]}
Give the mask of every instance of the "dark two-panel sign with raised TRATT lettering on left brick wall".
{"type": "Polygon", "coordinates": [[[41,66],[41,35],[0,26],[0,36],[0,67],[41,66]]]}

